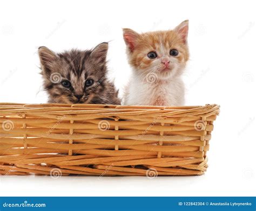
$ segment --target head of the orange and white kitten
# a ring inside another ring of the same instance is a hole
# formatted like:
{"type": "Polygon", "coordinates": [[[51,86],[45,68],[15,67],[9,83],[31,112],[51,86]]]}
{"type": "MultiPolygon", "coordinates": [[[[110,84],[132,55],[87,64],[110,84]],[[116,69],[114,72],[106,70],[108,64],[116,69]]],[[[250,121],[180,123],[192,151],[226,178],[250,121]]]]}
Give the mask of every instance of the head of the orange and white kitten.
{"type": "Polygon", "coordinates": [[[139,76],[155,73],[159,79],[179,76],[188,60],[188,21],[174,30],[139,34],[123,29],[129,63],[139,76]]]}

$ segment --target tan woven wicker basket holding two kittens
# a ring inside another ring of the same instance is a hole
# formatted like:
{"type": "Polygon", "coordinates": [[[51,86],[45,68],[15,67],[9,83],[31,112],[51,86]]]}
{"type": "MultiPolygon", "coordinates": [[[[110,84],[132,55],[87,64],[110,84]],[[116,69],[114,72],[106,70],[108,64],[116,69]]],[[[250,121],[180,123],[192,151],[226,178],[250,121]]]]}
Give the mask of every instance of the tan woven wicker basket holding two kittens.
{"type": "Polygon", "coordinates": [[[218,105],[0,104],[0,174],[201,175],[218,105]]]}

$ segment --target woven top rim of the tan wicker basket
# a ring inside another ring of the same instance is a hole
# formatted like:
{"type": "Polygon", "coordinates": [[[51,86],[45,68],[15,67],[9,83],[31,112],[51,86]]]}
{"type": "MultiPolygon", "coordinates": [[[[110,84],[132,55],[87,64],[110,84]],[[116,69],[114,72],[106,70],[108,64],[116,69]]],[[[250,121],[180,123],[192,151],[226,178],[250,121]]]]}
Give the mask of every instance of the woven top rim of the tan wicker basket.
{"type": "Polygon", "coordinates": [[[166,117],[182,115],[183,117],[208,117],[218,115],[220,106],[206,104],[205,106],[124,106],[124,105],[101,105],[101,104],[10,104],[0,103],[0,115],[8,113],[24,115],[29,113],[48,114],[92,114],[104,115],[105,117],[120,118],[123,115],[147,117],[166,117]]]}

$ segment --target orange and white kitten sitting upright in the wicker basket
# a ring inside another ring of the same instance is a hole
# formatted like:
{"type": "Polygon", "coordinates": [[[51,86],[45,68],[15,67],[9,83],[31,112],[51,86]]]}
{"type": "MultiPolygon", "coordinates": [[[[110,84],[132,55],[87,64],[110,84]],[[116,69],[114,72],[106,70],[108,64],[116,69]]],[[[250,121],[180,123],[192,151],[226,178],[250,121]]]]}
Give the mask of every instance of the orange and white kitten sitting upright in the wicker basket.
{"type": "Polygon", "coordinates": [[[179,106],[184,104],[181,79],[189,57],[188,21],[174,30],[139,34],[123,29],[132,76],[125,105],[179,106]]]}

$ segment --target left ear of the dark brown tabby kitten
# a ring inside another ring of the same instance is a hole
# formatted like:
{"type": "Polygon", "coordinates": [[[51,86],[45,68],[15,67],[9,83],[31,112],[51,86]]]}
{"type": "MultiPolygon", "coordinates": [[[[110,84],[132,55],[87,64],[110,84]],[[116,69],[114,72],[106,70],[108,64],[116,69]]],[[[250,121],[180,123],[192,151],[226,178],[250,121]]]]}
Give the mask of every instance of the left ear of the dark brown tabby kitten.
{"type": "Polygon", "coordinates": [[[57,59],[57,55],[45,46],[38,48],[38,55],[43,73],[50,73],[52,63],[57,59]]]}

